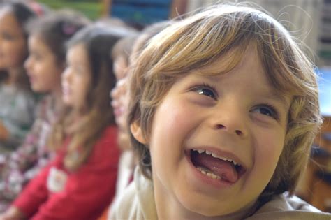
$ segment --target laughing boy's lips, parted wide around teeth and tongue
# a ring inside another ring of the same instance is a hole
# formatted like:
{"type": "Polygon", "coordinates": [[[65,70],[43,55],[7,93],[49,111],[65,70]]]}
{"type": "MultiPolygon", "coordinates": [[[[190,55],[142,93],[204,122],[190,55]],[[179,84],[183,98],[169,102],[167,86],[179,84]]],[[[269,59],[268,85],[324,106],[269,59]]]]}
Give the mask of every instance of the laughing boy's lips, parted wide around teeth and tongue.
{"type": "Polygon", "coordinates": [[[185,154],[191,165],[216,186],[235,184],[246,173],[246,166],[237,156],[213,147],[185,149],[185,154]]]}

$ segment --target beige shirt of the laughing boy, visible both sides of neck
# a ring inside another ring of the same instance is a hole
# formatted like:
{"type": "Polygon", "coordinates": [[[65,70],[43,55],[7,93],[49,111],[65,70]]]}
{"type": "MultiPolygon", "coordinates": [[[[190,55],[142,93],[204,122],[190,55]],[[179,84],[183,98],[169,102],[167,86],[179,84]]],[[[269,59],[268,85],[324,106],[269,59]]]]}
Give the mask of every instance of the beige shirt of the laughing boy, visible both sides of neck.
{"type": "MultiPolygon", "coordinates": [[[[109,220],[154,220],[158,219],[152,181],[135,169],[134,182],[113,203],[109,220]]],[[[331,220],[331,214],[321,212],[296,196],[286,193],[274,196],[247,220],[331,220]]]]}

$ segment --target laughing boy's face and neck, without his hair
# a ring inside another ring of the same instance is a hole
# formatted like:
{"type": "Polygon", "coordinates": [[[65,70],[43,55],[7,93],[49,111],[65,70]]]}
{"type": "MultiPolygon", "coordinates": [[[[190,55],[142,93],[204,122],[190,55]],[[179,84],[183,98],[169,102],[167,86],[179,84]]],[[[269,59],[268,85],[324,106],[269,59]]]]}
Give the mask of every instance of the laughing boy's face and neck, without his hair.
{"type": "Polygon", "coordinates": [[[220,59],[175,82],[155,112],[144,141],[158,212],[240,216],[274,173],[290,97],[268,84],[253,47],[229,73],[207,75],[225,63],[220,59]]]}

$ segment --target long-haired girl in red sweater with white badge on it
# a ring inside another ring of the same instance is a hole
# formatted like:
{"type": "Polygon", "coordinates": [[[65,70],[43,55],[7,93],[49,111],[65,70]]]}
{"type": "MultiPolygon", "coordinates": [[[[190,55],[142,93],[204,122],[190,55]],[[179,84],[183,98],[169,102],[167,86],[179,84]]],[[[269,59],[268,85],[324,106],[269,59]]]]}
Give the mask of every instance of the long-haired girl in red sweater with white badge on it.
{"type": "Polygon", "coordinates": [[[112,200],[119,149],[108,95],[115,85],[109,52],[120,37],[114,29],[94,24],[68,43],[62,75],[68,110],[50,138],[57,157],[2,219],[97,219],[112,200]]]}

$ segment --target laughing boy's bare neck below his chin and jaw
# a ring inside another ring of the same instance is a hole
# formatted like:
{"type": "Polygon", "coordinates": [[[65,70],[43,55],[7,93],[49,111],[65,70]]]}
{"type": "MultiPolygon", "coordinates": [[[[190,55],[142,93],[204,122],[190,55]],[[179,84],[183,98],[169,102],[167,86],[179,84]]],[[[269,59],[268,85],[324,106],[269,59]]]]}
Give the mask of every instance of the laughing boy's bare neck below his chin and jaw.
{"type": "MultiPolygon", "coordinates": [[[[188,219],[188,220],[237,220],[249,217],[256,210],[256,202],[244,207],[242,210],[235,212],[233,214],[228,214],[225,216],[216,217],[206,217],[196,212],[191,212],[186,210],[182,204],[176,198],[173,198],[170,193],[162,192],[158,190],[157,184],[154,184],[154,199],[156,205],[156,212],[159,220],[165,219],[188,219]]],[[[203,201],[202,201],[203,203],[203,201]]]]}

